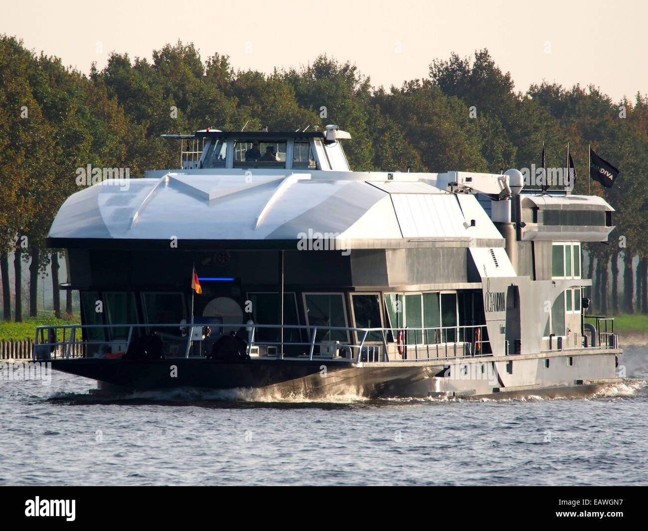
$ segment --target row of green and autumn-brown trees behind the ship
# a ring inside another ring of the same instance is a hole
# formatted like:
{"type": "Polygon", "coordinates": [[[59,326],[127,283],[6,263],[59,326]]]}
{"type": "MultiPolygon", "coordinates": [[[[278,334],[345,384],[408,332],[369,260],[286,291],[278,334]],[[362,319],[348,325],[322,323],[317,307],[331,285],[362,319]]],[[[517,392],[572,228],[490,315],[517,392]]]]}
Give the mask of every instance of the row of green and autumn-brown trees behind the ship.
{"type": "MultiPolygon", "coordinates": [[[[58,268],[62,249],[45,237],[63,201],[79,190],[76,168],[130,168],[141,177],[178,166],[178,145],[163,133],[205,128],[295,130],[340,124],[354,170],[498,172],[564,167],[575,160],[575,193],[588,193],[587,147],[621,167],[613,188],[592,183],[592,194],[616,208],[609,245],[586,245],[592,299],[605,312],[648,313],[648,96],[614,102],[596,87],[542,83],[516,92],[487,50],[474,57],[434,59],[428,78],[401,87],[373,87],[349,63],[325,55],[299,67],[235,70],[218,53],[202,60],[180,41],[154,51],[152,61],[113,52],[88,76],[55,57],[0,36],[0,275],[6,320],[23,316],[20,289],[12,299],[9,256],[16,286],[29,263],[29,315],[38,311],[39,273],[51,268],[54,311],[62,315],[58,268]],[[623,258],[619,301],[618,259],[623,258]],[[636,271],[633,258],[638,257],[636,271]],[[608,270],[612,278],[608,278],[608,270]],[[636,278],[636,281],[634,280],[636,278]],[[611,290],[610,290],[611,283],[611,290]],[[611,300],[610,300],[611,291],[611,300]],[[13,310],[13,311],[12,311],[13,310]]],[[[67,291],[66,311],[71,312],[67,291]]]]}

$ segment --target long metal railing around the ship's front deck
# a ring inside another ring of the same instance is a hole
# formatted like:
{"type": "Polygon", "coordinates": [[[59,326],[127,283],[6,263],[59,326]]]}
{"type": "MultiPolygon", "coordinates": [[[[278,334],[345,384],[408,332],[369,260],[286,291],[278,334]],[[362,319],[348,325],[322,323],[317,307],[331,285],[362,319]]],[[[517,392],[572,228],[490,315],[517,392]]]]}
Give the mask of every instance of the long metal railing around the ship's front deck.
{"type": "Polygon", "coordinates": [[[135,339],[152,332],[161,339],[165,357],[204,356],[203,345],[213,347],[220,337],[238,332],[247,339],[249,356],[262,347],[266,356],[274,348],[277,352],[275,356],[280,359],[327,357],[358,363],[425,361],[490,354],[484,352],[485,345],[489,345],[489,341],[483,340],[485,331],[485,325],[392,329],[297,324],[284,324],[282,327],[280,324],[255,323],[65,324],[36,328],[34,358],[121,357],[128,352],[135,339]],[[282,328],[284,335],[281,334],[282,328]],[[269,339],[257,340],[260,331],[264,331],[269,339]],[[208,332],[207,336],[203,335],[205,332],[208,332]],[[297,340],[290,335],[296,335],[297,340]],[[284,356],[286,349],[292,352],[291,356],[284,356]]]}

